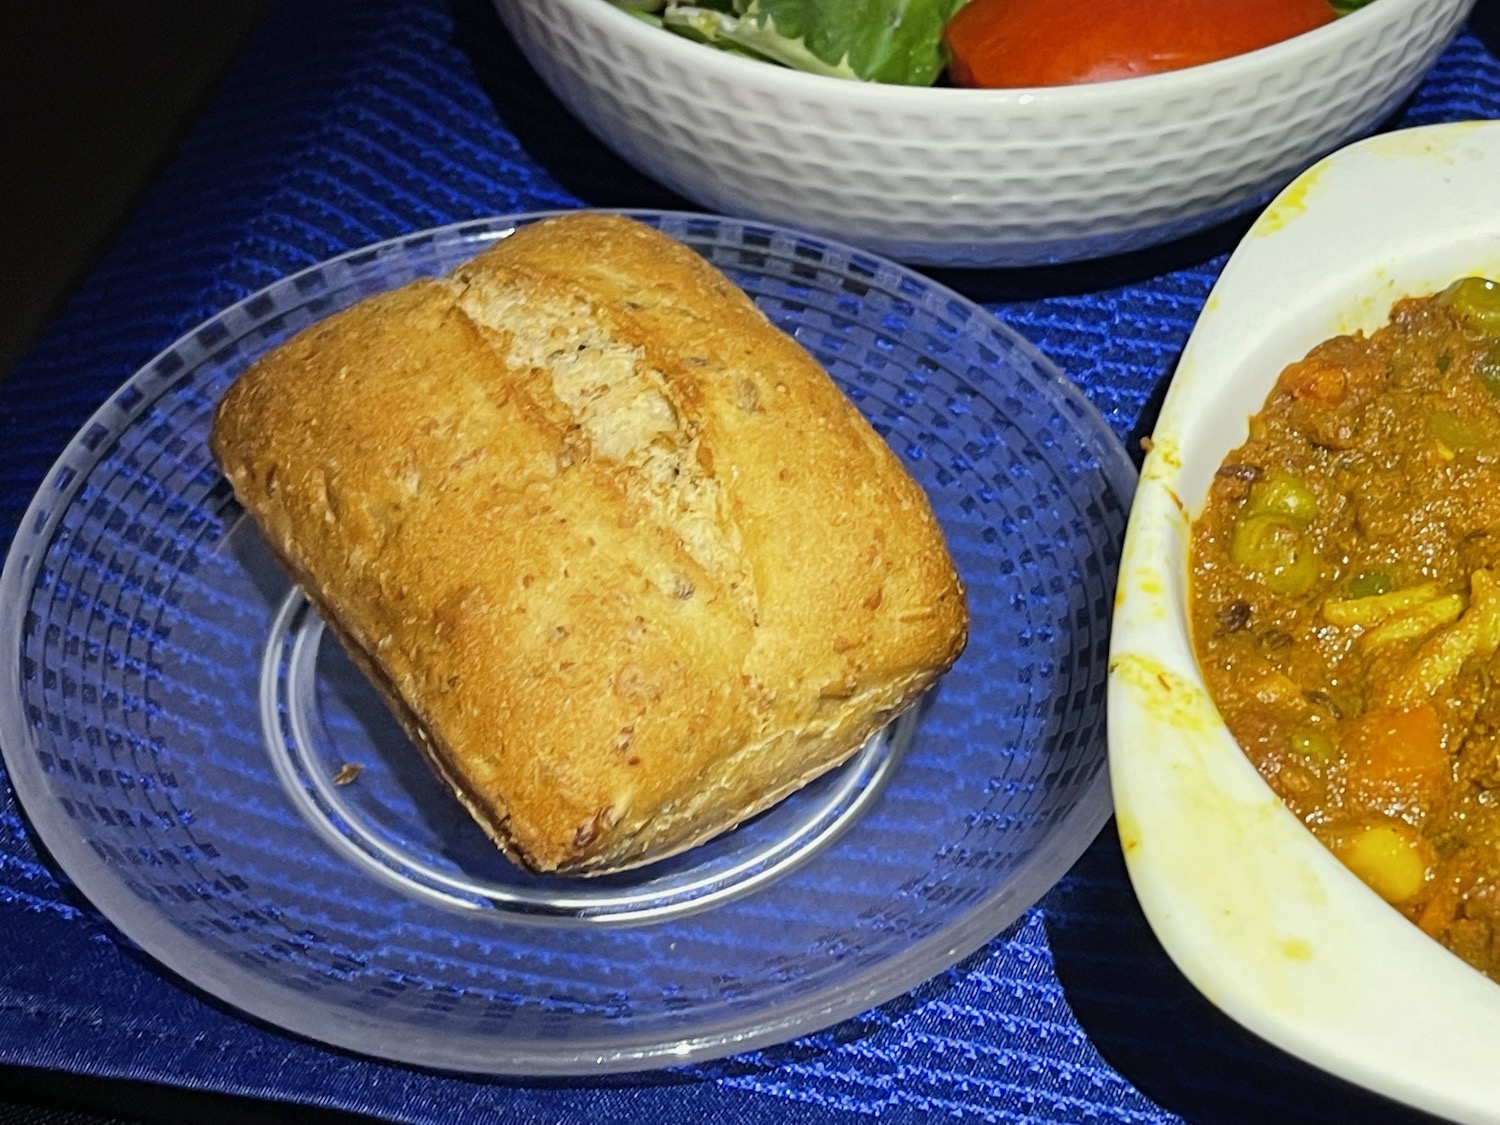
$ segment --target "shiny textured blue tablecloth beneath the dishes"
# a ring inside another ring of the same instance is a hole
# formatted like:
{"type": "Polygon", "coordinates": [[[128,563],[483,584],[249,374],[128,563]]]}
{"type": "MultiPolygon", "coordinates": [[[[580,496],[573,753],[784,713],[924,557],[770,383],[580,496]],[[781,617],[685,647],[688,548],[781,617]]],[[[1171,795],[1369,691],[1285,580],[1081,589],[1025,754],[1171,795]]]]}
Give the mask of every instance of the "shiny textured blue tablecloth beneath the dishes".
{"type": "MultiPolygon", "coordinates": [[[[1394,124],[1470,117],[1500,117],[1492,8],[1394,124]]],[[[556,105],[482,0],[280,4],[0,386],[0,543],[105,396],[225,304],[378,238],[576,204],[682,206],[556,105]]],[[[1028,334],[1134,444],[1242,230],[940,280],[1028,334]]],[[[1136,906],[1113,828],[1018,922],[898,1000],[771,1050],[597,1082],[430,1074],[246,1020],[130,948],[38,854],[8,790],[0,942],[0,1062],[396,1120],[1419,1120],[1256,1041],[1186,986],[1136,906]]]]}

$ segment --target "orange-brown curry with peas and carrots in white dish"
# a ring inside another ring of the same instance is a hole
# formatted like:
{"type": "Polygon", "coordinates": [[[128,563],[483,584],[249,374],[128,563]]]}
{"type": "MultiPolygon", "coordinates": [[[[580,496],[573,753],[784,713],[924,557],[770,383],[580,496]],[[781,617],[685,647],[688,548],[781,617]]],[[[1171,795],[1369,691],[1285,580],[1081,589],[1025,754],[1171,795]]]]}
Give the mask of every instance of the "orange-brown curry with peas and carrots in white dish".
{"type": "Polygon", "coordinates": [[[1287,806],[1500,981],[1500,285],[1281,374],[1194,524],[1192,630],[1287,806]]]}

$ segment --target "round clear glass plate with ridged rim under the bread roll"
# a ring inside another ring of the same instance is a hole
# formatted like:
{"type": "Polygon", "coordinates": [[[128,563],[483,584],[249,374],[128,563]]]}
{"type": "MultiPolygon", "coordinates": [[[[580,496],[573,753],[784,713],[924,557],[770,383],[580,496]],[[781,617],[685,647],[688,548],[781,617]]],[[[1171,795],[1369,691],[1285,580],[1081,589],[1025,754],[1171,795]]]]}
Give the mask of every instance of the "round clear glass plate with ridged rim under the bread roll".
{"type": "Polygon", "coordinates": [[[1107,818],[1134,471],[1047,360],[954,292],[764,224],[638,213],[744,286],[903,458],[969,588],[972,634],[903,723],[740,830],[628,874],[525,876],[324,639],[204,442],[256,356],[537,218],[304,270],[99,411],[0,576],[6,765],[42,842],[126,936],[338,1047],[597,1074],[826,1026],[978,948],[1107,818]]]}

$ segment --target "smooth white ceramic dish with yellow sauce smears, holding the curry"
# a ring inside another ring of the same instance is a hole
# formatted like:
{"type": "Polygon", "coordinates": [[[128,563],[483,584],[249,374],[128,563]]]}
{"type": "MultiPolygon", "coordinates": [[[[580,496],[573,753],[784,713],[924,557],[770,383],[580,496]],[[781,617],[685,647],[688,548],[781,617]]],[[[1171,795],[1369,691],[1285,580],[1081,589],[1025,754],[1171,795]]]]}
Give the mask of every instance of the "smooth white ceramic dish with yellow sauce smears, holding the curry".
{"type": "Polygon", "coordinates": [[[1500,1122],[1500,986],[1344,870],[1224,728],[1191,650],[1188,520],[1288,362],[1401,296],[1500,276],[1500,122],[1371,138],[1296,180],[1230,258],[1131,508],[1110,774],[1131,879],[1182,972],[1270,1042],[1392,1098],[1500,1122]]]}

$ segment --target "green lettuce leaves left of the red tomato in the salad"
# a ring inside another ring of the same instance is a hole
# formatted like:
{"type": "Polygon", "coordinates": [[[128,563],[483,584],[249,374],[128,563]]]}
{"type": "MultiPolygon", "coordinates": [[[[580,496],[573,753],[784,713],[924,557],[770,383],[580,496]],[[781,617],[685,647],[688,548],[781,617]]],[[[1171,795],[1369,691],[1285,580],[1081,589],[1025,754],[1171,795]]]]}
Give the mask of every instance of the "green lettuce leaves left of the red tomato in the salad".
{"type": "Polygon", "coordinates": [[[680,34],[783,66],[872,82],[932,86],[948,64],[942,28],[968,0],[612,0],[680,34]]]}

